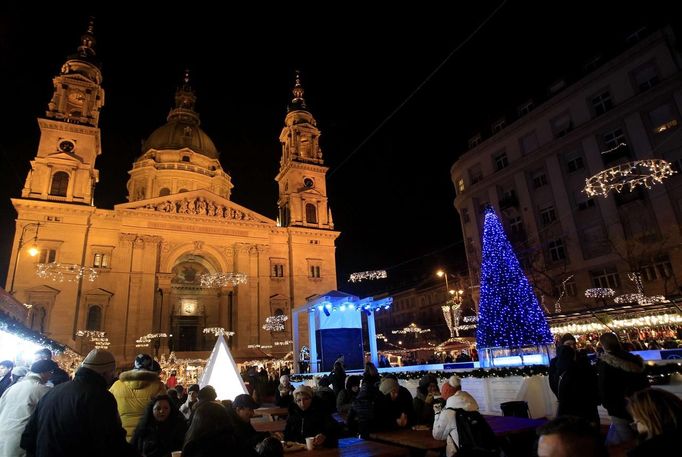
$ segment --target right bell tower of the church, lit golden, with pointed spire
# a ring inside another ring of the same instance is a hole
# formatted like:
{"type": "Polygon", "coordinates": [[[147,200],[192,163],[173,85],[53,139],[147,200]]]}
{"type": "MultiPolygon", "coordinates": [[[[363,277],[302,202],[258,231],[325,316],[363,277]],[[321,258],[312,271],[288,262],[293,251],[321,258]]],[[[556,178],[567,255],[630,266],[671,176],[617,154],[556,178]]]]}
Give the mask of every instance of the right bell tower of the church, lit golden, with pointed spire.
{"type": "Polygon", "coordinates": [[[279,135],[282,159],[275,177],[279,185],[279,224],[332,230],[334,222],[327,201],[328,168],[322,160],[320,130],[305,104],[298,72],[292,92],[294,98],[279,135]]]}

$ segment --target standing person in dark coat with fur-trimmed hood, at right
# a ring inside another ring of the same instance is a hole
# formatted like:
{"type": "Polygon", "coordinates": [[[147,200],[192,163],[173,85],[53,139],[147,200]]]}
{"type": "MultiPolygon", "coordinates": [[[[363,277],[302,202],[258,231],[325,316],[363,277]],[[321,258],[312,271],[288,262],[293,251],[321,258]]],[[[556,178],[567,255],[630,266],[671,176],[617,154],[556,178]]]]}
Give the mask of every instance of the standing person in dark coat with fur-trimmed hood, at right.
{"type": "Polygon", "coordinates": [[[632,417],[626,409],[626,398],[649,386],[644,374],[644,361],[621,348],[618,337],[604,333],[599,337],[604,353],[597,360],[597,381],[601,404],[611,416],[606,435],[607,446],[635,439],[630,428],[632,417]]]}

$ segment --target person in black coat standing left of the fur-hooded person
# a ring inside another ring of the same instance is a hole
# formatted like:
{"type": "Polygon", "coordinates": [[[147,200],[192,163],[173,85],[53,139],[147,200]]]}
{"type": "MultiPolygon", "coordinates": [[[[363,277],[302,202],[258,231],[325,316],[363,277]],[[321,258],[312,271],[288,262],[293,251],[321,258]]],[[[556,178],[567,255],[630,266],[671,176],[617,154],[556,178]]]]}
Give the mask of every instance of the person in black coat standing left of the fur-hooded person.
{"type": "Polygon", "coordinates": [[[578,357],[571,346],[557,350],[557,416],[582,417],[595,428],[599,428],[599,393],[597,374],[587,357],[578,357]]]}

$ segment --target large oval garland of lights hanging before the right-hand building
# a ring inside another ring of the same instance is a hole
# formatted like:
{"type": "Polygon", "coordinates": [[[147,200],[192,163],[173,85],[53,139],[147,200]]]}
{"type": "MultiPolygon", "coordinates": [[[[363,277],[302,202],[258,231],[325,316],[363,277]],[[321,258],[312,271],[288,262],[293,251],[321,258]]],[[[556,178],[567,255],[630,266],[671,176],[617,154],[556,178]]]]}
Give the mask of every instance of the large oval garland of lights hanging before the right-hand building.
{"type": "Polygon", "coordinates": [[[638,186],[650,189],[675,173],[677,172],[670,162],[662,159],[634,160],[607,168],[585,179],[583,192],[590,197],[601,195],[606,198],[612,190],[620,193],[627,189],[632,192],[638,186]]]}

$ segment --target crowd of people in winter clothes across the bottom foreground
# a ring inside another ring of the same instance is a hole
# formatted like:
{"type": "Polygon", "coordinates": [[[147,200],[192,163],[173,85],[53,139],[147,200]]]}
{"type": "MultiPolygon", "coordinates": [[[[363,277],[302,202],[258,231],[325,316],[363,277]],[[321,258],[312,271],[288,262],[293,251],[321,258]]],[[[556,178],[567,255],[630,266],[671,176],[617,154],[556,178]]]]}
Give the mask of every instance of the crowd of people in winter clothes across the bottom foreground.
{"type": "MultiPolygon", "coordinates": [[[[538,429],[537,455],[673,455],[682,432],[682,400],[650,387],[644,362],[615,334],[600,336],[595,363],[576,343],[563,335],[550,362],[549,385],[558,409],[556,418],[538,429]],[[610,416],[605,436],[598,405],[610,416]]],[[[164,383],[160,371],[151,356],[140,354],[114,380],[114,356],[98,349],[72,380],[49,350],[36,354],[27,373],[0,362],[0,457],[72,457],[84,450],[117,457],[170,457],[182,450],[184,457],[203,457],[226,449],[240,456],[281,456],[282,442],[312,439],[313,446],[336,447],[344,434],[368,438],[415,426],[445,440],[445,455],[451,457],[465,454],[463,421],[485,422],[456,375],[440,387],[434,375],[423,376],[413,397],[392,373],[380,376],[371,362],[362,375],[348,376],[340,359],[329,374],[315,378],[314,387],[294,387],[281,375],[274,401],[287,408],[284,431],[258,432],[251,421],[259,407],[256,392],[217,401],[212,386],[185,389],[173,376],[164,383]]]]}

